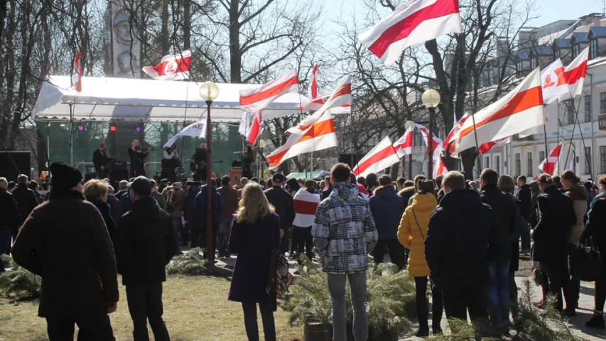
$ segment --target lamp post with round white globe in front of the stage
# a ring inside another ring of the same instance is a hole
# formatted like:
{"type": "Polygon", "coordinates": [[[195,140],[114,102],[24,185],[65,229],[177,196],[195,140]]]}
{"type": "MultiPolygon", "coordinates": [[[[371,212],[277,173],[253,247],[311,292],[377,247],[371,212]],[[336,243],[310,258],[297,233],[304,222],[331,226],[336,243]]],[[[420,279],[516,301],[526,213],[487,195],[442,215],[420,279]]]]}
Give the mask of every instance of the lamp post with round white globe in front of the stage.
{"type": "Polygon", "coordinates": [[[209,264],[214,264],[215,247],[212,227],[212,128],[210,126],[210,104],[219,96],[219,87],[213,82],[203,82],[200,85],[200,97],[206,102],[206,254],[209,264]]]}

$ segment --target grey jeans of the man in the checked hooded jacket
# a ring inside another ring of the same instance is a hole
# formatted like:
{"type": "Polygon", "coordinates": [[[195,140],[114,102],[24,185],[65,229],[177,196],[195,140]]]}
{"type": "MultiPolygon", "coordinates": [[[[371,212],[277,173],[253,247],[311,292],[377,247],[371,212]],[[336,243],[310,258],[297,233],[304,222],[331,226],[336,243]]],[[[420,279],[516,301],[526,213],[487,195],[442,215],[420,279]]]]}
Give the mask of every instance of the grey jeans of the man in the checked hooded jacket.
{"type": "Polygon", "coordinates": [[[356,341],[366,341],[368,338],[366,272],[348,275],[328,274],[328,291],[330,291],[330,299],[332,301],[332,341],[347,341],[345,278],[350,281],[352,291],[354,339],[356,341]]]}

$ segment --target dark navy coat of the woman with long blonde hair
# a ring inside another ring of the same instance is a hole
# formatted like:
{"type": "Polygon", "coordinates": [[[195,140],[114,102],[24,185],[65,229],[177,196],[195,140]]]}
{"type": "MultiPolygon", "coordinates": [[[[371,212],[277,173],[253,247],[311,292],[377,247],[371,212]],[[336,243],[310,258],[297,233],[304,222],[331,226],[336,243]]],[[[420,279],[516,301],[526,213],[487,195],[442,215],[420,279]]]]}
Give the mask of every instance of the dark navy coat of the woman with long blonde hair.
{"type": "Polygon", "coordinates": [[[274,249],[280,249],[278,215],[267,215],[254,224],[234,220],[229,251],[238,254],[238,258],[229,288],[229,301],[257,303],[269,300],[266,287],[269,257],[274,249]]]}

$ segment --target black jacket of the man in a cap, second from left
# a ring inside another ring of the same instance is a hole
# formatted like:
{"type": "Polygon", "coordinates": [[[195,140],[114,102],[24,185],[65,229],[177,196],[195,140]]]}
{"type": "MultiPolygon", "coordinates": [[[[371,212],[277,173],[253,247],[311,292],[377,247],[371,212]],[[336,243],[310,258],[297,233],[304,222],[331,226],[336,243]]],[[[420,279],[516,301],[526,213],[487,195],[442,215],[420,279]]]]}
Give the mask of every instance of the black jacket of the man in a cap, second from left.
{"type": "Polygon", "coordinates": [[[122,283],[146,285],[166,281],[165,266],[177,254],[171,216],[151,197],[133,202],[118,223],[116,259],[122,283]]]}

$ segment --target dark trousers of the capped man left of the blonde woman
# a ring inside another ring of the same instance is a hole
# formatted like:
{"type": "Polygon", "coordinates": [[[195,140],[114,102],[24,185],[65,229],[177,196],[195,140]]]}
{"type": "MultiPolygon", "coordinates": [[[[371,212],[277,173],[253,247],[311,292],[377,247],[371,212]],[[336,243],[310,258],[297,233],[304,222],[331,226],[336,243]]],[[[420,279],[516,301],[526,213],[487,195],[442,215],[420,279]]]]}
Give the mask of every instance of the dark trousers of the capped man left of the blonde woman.
{"type": "Polygon", "coordinates": [[[168,330],[162,314],[162,283],[145,286],[126,286],[126,300],[133,320],[133,338],[135,341],[149,341],[147,321],[156,341],[169,341],[168,330]]]}

